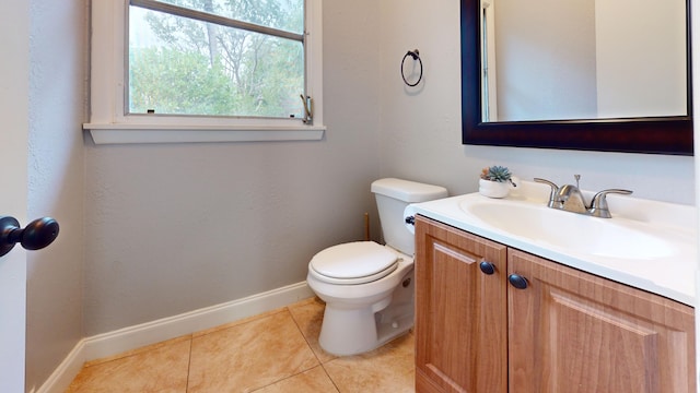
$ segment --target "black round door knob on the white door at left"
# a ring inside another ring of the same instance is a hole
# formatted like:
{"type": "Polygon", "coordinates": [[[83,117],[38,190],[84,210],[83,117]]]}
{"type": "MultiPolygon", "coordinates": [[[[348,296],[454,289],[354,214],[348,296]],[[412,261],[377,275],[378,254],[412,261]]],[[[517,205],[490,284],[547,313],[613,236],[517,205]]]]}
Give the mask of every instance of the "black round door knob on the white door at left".
{"type": "Polygon", "coordinates": [[[21,243],[27,250],[38,250],[50,245],[58,237],[58,223],[51,217],[31,222],[24,229],[14,217],[0,217],[0,257],[21,243]]]}

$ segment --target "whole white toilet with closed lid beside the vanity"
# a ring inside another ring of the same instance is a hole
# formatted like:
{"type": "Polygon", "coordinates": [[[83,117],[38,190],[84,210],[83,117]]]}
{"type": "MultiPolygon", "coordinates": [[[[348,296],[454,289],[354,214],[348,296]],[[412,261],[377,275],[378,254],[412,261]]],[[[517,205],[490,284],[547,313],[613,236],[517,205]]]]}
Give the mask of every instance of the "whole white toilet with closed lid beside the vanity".
{"type": "Polygon", "coordinates": [[[447,196],[443,187],[400,179],[372,183],[386,246],[329,247],[308,263],[306,282],[326,302],[318,342],[334,355],[372,350],[413,325],[413,235],[408,204],[447,196]]]}

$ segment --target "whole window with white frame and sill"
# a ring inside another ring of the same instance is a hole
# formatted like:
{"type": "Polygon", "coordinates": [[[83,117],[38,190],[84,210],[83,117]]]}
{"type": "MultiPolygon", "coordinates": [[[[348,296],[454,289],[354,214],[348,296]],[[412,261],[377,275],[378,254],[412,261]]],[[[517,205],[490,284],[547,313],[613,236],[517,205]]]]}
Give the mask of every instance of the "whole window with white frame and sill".
{"type": "Polygon", "coordinates": [[[323,138],[320,0],[93,2],[95,143],[323,138]]]}

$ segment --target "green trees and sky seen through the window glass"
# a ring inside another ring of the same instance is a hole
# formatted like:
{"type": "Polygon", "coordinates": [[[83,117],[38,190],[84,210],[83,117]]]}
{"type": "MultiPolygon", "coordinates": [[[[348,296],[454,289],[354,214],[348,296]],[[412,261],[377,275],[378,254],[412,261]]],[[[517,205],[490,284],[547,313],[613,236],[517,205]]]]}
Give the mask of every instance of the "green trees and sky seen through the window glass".
{"type": "Polygon", "coordinates": [[[127,114],[302,117],[304,0],[131,0],[128,12],[127,114]]]}

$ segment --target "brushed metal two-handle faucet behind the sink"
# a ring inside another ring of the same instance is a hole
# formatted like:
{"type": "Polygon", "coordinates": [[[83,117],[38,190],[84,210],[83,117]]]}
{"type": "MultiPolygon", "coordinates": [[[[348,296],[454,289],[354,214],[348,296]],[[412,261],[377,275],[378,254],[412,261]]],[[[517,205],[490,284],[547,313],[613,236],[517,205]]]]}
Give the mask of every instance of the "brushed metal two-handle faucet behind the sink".
{"type": "Polygon", "coordinates": [[[603,190],[596,193],[591,201],[591,205],[586,204],[585,198],[581,193],[579,189],[579,180],[581,179],[580,175],[574,175],[576,179],[576,186],[573,184],[564,184],[558,187],[553,182],[535,178],[535,181],[548,184],[551,187],[551,192],[549,193],[549,202],[547,206],[551,209],[562,210],[565,212],[573,212],[579,214],[591,215],[594,217],[600,218],[610,218],[610,211],[608,209],[608,201],[606,200],[606,195],[609,193],[619,193],[629,195],[632,191],[621,190],[621,189],[609,189],[603,190]]]}

